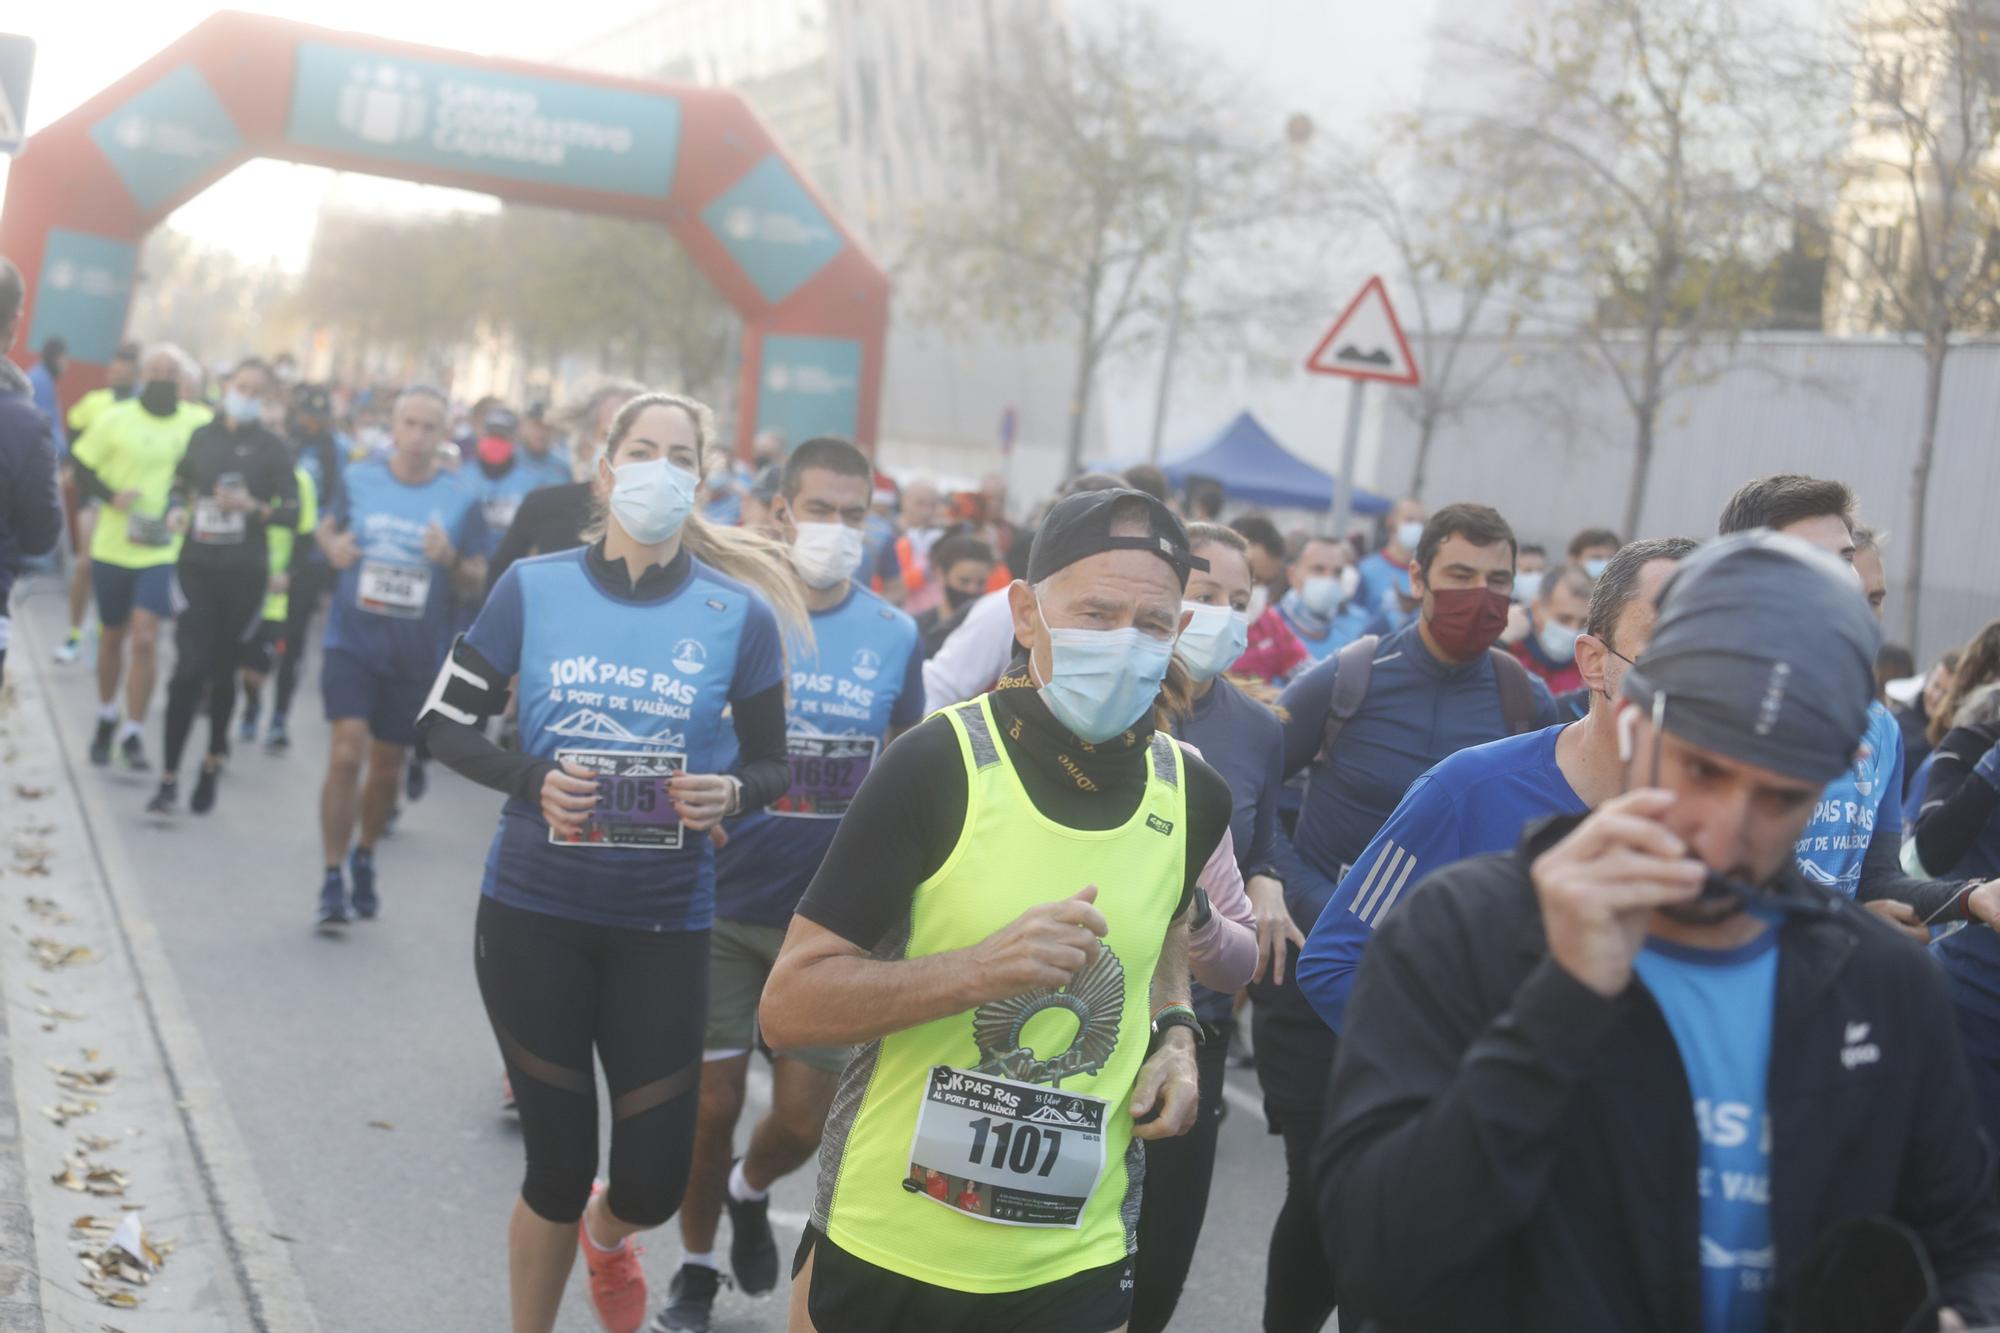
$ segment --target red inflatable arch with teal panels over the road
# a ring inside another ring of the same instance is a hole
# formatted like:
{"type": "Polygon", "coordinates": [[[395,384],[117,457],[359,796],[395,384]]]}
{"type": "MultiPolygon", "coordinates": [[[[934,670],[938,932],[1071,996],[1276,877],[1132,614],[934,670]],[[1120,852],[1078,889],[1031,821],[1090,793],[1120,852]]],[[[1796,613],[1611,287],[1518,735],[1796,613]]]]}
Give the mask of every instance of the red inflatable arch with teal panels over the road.
{"type": "Polygon", "coordinates": [[[28,276],[28,348],[104,380],[138,242],[248,158],[650,218],[744,322],[736,444],[758,428],[870,446],[888,278],[734,92],[608,78],[214,14],[28,140],[0,254],[28,276]]]}

